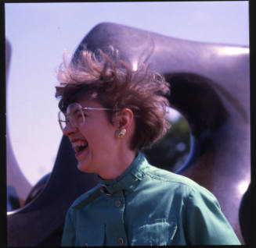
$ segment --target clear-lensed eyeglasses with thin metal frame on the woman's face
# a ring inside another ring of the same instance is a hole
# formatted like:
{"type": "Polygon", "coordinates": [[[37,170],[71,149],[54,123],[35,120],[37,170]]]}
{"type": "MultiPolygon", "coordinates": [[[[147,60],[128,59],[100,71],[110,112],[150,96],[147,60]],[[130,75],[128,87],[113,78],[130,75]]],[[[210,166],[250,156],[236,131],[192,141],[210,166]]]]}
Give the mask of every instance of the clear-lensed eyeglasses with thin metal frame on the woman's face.
{"type": "Polygon", "coordinates": [[[67,106],[67,112],[59,112],[59,126],[60,129],[66,128],[68,124],[74,127],[81,127],[85,125],[84,110],[111,110],[111,108],[83,108],[78,103],[73,103],[67,106]]]}

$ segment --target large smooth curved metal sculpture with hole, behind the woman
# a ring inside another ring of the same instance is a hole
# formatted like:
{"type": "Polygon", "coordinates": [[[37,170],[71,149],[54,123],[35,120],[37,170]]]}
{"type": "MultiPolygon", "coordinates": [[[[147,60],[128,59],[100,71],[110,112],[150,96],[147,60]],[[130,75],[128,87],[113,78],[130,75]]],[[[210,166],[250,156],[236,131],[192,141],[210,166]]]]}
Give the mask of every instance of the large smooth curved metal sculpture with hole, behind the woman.
{"type": "MultiPolygon", "coordinates": [[[[191,131],[189,156],[176,172],[215,194],[243,243],[247,230],[242,236],[238,216],[251,164],[248,48],[185,41],[114,23],[100,23],[81,44],[92,51],[108,51],[112,45],[132,68],[149,62],[151,69],[166,76],[171,106],[185,116],[191,131]]],[[[9,214],[8,245],[59,245],[67,208],[95,184],[94,175],[78,172],[70,143],[63,137],[42,192],[9,214]]]]}

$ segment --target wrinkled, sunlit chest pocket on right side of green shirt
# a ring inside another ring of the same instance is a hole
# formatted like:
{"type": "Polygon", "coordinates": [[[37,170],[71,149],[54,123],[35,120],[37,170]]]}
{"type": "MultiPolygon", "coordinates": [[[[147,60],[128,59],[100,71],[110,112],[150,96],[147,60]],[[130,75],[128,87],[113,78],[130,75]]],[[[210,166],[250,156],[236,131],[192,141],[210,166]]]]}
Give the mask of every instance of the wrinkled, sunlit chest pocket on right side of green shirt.
{"type": "Polygon", "coordinates": [[[133,228],[132,246],[167,246],[177,230],[176,221],[156,220],[133,228]]]}

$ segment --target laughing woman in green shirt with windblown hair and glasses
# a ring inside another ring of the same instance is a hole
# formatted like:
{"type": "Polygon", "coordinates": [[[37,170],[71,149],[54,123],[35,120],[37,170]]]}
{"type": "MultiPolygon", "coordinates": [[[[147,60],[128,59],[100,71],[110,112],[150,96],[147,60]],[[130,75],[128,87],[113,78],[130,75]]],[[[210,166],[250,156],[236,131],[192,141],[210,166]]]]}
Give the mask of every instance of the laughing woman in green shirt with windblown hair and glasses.
{"type": "Polygon", "coordinates": [[[59,69],[59,124],[78,169],[99,184],[67,211],[62,246],[240,244],[204,187],[150,165],[141,152],[166,133],[163,76],[132,70],[117,51],[83,51],[59,69]]]}

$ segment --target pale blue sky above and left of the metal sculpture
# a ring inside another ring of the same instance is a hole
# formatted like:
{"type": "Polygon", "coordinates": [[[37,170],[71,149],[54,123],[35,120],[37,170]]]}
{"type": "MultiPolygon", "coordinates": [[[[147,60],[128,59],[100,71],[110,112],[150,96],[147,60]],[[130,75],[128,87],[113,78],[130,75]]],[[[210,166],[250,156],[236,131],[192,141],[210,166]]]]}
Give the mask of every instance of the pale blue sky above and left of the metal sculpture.
{"type": "Polygon", "coordinates": [[[50,172],[62,133],[56,69],[88,31],[120,23],[190,41],[249,45],[248,2],[5,3],[12,45],[7,119],[20,168],[34,184],[50,172]]]}

